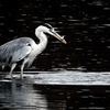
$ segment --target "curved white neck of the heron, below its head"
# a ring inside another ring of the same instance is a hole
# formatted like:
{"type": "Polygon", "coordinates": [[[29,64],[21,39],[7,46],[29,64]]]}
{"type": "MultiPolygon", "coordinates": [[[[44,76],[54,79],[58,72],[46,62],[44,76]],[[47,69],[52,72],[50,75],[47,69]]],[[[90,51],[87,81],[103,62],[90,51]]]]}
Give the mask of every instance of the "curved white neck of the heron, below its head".
{"type": "Polygon", "coordinates": [[[47,37],[43,32],[36,31],[35,34],[40,40],[38,46],[40,46],[41,52],[42,52],[43,50],[45,50],[45,47],[47,45],[47,37]]]}

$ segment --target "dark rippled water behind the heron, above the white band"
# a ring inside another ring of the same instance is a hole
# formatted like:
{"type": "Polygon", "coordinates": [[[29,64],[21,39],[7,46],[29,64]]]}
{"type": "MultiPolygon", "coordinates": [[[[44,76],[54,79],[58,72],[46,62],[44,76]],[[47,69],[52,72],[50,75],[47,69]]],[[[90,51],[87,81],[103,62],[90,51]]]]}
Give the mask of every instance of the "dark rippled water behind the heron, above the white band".
{"type": "Polygon", "coordinates": [[[21,36],[37,42],[34,31],[43,23],[65,35],[67,45],[50,37],[32,69],[110,70],[109,0],[0,0],[0,44],[21,36]]]}

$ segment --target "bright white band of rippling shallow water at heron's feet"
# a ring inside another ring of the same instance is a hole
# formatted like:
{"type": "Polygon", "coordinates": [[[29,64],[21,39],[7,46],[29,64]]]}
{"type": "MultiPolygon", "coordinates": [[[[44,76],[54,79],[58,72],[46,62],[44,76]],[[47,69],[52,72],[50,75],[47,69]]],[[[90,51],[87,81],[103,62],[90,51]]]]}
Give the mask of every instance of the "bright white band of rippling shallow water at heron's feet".
{"type": "MultiPolygon", "coordinates": [[[[10,79],[8,73],[0,74],[0,81],[18,81],[20,80],[20,72],[13,74],[13,80],[10,79]]],[[[110,85],[109,72],[80,72],[80,70],[58,70],[58,72],[24,72],[23,82],[37,85],[110,85]]],[[[20,80],[22,81],[22,80],[20,80]]]]}

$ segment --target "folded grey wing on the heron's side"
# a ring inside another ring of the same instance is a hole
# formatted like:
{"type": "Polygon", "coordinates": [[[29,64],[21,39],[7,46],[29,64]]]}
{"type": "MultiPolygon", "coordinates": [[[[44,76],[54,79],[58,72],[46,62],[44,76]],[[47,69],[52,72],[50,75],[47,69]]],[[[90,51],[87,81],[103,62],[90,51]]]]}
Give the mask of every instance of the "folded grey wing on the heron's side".
{"type": "Polygon", "coordinates": [[[23,59],[31,53],[31,46],[28,43],[9,42],[0,46],[0,64],[8,65],[23,59]]]}

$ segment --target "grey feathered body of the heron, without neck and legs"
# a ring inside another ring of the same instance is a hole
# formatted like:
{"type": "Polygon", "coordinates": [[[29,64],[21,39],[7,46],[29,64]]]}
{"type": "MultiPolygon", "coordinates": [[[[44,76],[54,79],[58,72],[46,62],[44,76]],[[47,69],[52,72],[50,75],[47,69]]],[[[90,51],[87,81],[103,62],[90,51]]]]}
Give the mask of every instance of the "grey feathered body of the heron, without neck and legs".
{"type": "Polygon", "coordinates": [[[11,66],[26,58],[28,65],[30,66],[38,53],[37,45],[32,38],[16,38],[0,46],[0,65],[11,66]]]}

